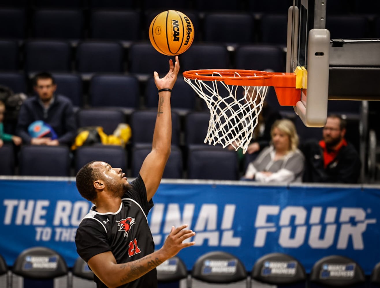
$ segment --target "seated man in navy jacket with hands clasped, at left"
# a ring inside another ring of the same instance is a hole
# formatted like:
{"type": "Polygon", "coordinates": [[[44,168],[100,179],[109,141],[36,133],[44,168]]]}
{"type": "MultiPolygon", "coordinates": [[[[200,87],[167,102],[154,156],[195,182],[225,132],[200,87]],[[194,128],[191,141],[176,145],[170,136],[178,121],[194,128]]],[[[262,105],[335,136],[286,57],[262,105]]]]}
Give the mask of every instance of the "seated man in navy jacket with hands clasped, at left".
{"type": "Polygon", "coordinates": [[[36,92],[22,104],[16,127],[16,134],[22,138],[24,144],[70,145],[76,135],[76,123],[71,100],[63,95],[55,95],[57,89],[55,80],[50,73],[41,72],[33,79],[36,92]],[[43,121],[51,127],[51,134],[57,138],[36,137],[28,133],[28,127],[35,121],[43,121]]]}

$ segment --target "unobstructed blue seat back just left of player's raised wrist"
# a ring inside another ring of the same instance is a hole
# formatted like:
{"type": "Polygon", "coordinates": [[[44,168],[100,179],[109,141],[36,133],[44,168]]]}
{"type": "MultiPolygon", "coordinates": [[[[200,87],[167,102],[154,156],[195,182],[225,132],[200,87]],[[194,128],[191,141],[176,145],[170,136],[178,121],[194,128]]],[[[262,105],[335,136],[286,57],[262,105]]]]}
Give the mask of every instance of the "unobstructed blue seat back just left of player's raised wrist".
{"type": "Polygon", "coordinates": [[[127,75],[95,75],[90,81],[90,105],[136,109],[139,81],[127,75]]]}

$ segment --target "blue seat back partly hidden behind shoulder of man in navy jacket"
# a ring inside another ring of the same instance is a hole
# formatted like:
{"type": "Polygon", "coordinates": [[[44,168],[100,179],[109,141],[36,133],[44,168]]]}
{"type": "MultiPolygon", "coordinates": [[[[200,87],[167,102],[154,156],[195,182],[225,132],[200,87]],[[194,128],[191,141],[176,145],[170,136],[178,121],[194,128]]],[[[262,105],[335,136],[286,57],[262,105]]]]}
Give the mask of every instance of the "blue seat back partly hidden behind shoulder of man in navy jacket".
{"type": "Polygon", "coordinates": [[[73,73],[53,73],[57,84],[56,94],[68,97],[76,107],[83,106],[82,78],[73,73]]]}

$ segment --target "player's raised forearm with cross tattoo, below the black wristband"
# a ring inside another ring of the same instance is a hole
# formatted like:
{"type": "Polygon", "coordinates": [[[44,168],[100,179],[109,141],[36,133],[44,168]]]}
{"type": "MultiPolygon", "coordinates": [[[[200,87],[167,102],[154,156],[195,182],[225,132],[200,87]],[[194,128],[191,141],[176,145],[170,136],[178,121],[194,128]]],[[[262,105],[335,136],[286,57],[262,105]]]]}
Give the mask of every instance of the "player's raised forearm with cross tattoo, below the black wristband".
{"type": "Polygon", "coordinates": [[[159,149],[162,153],[169,153],[171,145],[170,92],[163,91],[158,93],[158,95],[158,109],[152,149],[159,149]]]}

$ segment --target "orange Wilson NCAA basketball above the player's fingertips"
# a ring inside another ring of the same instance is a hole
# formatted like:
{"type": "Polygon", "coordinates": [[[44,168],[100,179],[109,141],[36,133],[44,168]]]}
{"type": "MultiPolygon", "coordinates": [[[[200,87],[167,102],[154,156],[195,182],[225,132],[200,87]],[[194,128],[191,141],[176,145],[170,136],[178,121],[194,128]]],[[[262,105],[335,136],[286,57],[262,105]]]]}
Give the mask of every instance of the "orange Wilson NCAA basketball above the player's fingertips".
{"type": "Polygon", "coordinates": [[[169,56],[179,55],[193,43],[193,23],[182,12],[161,12],[150,23],[149,40],[158,52],[169,56]]]}

